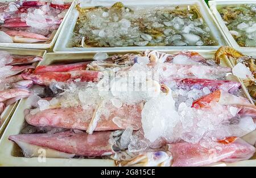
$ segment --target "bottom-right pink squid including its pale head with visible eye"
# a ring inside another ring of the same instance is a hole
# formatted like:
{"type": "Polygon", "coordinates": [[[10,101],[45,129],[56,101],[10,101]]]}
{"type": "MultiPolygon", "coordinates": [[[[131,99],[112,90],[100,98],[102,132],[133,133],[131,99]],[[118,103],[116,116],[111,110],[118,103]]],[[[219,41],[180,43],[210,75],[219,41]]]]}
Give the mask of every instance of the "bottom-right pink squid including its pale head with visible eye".
{"type": "Polygon", "coordinates": [[[124,160],[121,166],[203,166],[216,162],[233,163],[250,159],[255,147],[236,137],[218,142],[188,143],[178,142],[166,145],[166,151],[145,152],[132,159],[124,160]]]}

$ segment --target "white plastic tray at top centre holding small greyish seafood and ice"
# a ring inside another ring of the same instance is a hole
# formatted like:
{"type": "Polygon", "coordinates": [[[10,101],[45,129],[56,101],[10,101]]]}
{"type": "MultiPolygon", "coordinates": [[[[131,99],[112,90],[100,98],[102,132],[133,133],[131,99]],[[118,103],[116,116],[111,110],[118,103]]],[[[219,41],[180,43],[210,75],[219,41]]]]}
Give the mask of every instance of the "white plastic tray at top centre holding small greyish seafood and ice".
{"type": "MultiPolygon", "coordinates": [[[[88,0],[87,0],[88,1],[88,0]]],[[[87,2],[84,0],[83,2],[87,2]]],[[[224,38],[224,34],[216,27],[216,20],[213,18],[212,13],[210,12],[208,6],[203,0],[184,0],[184,1],[154,1],[154,0],[144,0],[144,1],[136,1],[136,0],[97,0],[97,1],[88,1],[88,3],[83,3],[83,7],[92,7],[92,6],[112,6],[115,2],[123,2],[126,6],[177,6],[177,5],[196,5],[200,11],[200,14],[203,16],[205,22],[208,24],[210,30],[212,31],[214,39],[217,40],[218,46],[226,45],[226,39],[224,38]]],[[[145,49],[152,49],[152,50],[162,50],[162,49],[214,49],[218,48],[217,46],[183,46],[183,47],[176,47],[176,46],[157,46],[157,47],[85,47],[85,48],[77,48],[72,47],[69,44],[69,41],[73,35],[73,29],[77,22],[77,18],[79,16],[79,12],[75,8],[76,3],[73,3],[71,6],[71,11],[68,14],[67,19],[63,25],[63,30],[60,32],[60,36],[57,39],[56,45],[53,48],[54,52],[66,52],[66,51],[88,51],[88,52],[96,52],[96,51],[144,51],[145,49]]]]}

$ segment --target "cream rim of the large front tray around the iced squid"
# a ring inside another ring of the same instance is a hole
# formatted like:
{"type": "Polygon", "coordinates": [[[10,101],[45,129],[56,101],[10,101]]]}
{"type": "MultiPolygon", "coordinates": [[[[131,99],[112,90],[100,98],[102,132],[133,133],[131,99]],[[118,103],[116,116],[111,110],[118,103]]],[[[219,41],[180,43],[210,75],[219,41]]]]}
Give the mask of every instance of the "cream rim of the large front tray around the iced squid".
{"type": "MultiPolygon", "coordinates": [[[[159,50],[159,51],[162,51],[162,50],[159,50]]],[[[178,52],[178,51],[180,51],[180,50],[172,49],[172,50],[168,50],[168,51],[164,51],[164,52],[178,52]]],[[[190,50],[190,51],[192,51],[192,50],[190,50]]],[[[193,51],[197,51],[199,53],[214,53],[214,52],[216,52],[215,49],[212,49],[212,50],[203,49],[203,50],[193,50],[193,51]]],[[[125,53],[127,51],[122,51],[122,52],[125,53]]],[[[139,51],[134,51],[134,52],[139,52],[139,51]]],[[[47,53],[46,55],[44,55],[44,60],[38,65],[51,63],[51,61],[54,60],[53,56],[61,57],[61,55],[63,55],[63,56],[72,57],[72,55],[76,55],[76,56],[81,55],[81,57],[82,57],[85,55],[92,55],[93,53],[95,53],[95,52],[47,53]]],[[[113,51],[110,51],[109,53],[113,53],[113,51]]],[[[229,60],[226,62],[228,63],[229,67],[232,67],[232,64],[230,63],[229,60]]],[[[21,109],[24,109],[25,103],[26,103],[26,99],[20,100],[20,102],[13,114],[13,117],[11,118],[11,121],[9,122],[9,125],[6,127],[6,130],[3,133],[2,138],[0,139],[0,158],[1,158],[0,166],[1,165],[7,165],[7,166],[17,166],[17,165],[21,165],[21,166],[36,166],[36,165],[38,165],[38,166],[102,166],[102,167],[103,166],[115,166],[114,160],[108,160],[108,159],[105,160],[105,159],[47,158],[47,162],[40,163],[40,162],[38,162],[37,158],[24,158],[24,157],[16,157],[16,156],[11,155],[11,152],[13,152],[13,147],[14,147],[15,143],[11,142],[7,138],[9,135],[19,134],[19,131],[22,128],[22,125],[24,123],[24,118],[19,117],[19,118],[16,118],[16,121],[15,121],[14,117],[19,116],[20,114],[23,113],[23,111],[21,109]],[[5,148],[5,149],[3,150],[3,148],[5,148]]],[[[256,131],[253,131],[251,133],[256,134],[256,131]]],[[[249,134],[251,134],[251,133],[249,133],[249,134]]],[[[249,135],[249,134],[247,134],[247,135],[249,135]]],[[[247,136],[247,135],[245,135],[245,136],[247,136]]],[[[236,162],[236,163],[218,162],[218,163],[211,164],[210,166],[255,166],[255,165],[256,165],[256,159],[243,160],[243,161],[236,162]]]]}

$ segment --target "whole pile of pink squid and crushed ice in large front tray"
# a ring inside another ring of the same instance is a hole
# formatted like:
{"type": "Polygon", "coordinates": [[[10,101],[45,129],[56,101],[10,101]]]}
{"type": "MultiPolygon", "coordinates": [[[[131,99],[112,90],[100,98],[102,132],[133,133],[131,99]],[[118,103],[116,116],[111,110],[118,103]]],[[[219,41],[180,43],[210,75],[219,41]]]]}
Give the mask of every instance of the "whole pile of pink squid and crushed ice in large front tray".
{"type": "Polygon", "coordinates": [[[234,55],[227,49],[212,58],[191,51],[100,52],[92,61],[39,65],[20,81],[10,79],[31,81],[24,85],[33,93],[23,129],[9,140],[27,158],[42,148],[47,158],[112,159],[117,166],[250,159],[255,146],[241,137],[256,128],[256,106],[223,65],[229,59],[222,55],[234,55]]]}

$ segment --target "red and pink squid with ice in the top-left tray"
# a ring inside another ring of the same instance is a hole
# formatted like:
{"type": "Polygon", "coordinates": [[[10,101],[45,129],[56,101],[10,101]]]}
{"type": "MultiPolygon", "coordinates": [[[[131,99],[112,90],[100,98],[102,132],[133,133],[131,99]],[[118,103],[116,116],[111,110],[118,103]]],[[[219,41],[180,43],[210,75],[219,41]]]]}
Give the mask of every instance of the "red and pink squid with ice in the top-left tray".
{"type": "Polygon", "coordinates": [[[48,43],[70,3],[59,0],[0,4],[0,43],[48,43]]]}

